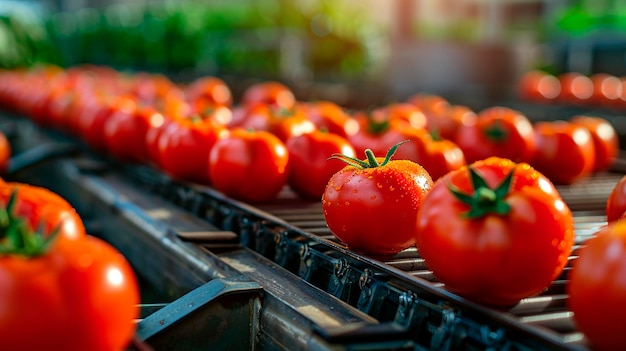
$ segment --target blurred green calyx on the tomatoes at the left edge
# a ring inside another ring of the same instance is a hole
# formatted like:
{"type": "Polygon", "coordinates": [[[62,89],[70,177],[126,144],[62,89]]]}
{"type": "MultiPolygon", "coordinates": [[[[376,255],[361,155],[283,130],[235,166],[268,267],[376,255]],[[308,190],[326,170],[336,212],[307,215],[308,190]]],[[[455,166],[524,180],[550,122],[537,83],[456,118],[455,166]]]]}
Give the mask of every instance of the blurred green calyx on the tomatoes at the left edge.
{"type": "Polygon", "coordinates": [[[15,216],[17,190],[11,193],[5,207],[0,208],[0,255],[36,257],[43,255],[60,232],[56,227],[50,235],[43,228],[33,231],[24,218],[15,216]]]}

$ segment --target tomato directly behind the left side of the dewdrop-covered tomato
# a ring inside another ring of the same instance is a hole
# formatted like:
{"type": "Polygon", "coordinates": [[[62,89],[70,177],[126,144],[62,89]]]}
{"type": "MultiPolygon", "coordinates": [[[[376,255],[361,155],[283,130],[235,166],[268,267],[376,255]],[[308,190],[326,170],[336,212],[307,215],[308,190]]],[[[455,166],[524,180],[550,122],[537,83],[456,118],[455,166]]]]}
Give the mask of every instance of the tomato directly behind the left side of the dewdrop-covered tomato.
{"type": "Polygon", "coordinates": [[[288,184],[296,194],[308,199],[319,200],[330,177],[345,166],[338,160],[329,160],[333,154],[356,156],[346,138],[319,130],[290,138],[286,146],[288,184]]]}

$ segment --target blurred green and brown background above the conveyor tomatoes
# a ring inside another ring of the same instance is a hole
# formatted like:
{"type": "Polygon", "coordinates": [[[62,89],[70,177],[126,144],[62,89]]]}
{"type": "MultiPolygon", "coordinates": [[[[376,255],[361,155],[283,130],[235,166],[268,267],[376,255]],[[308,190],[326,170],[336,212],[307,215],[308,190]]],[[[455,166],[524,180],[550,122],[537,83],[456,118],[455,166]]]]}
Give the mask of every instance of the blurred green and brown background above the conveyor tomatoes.
{"type": "Polygon", "coordinates": [[[626,0],[0,0],[0,67],[42,63],[471,106],[532,69],[626,76],[626,0]]]}

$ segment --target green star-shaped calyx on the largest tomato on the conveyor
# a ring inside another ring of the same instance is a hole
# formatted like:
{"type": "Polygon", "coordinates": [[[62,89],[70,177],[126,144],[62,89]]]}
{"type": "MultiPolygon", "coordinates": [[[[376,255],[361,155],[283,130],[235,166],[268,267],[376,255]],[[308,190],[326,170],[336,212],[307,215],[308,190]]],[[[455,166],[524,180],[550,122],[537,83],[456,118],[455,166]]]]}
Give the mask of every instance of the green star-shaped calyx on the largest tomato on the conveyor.
{"type": "Polygon", "coordinates": [[[470,207],[469,211],[463,214],[465,218],[476,219],[490,213],[504,216],[509,213],[511,206],[506,203],[504,198],[511,188],[515,169],[512,169],[504,180],[494,189],[487,185],[485,179],[481,177],[474,168],[469,167],[469,171],[472,187],[474,188],[473,194],[463,193],[452,185],[448,185],[450,192],[452,192],[459,201],[470,207]]]}

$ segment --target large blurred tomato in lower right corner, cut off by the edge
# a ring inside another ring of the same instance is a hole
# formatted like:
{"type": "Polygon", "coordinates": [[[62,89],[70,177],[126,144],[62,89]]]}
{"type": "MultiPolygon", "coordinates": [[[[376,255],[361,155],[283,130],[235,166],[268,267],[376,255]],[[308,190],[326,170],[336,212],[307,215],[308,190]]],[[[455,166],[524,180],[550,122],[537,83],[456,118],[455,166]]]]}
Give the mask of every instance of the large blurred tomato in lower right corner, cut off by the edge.
{"type": "Polygon", "coordinates": [[[576,327],[593,350],[624,348],[626,220],[601,228],[573,261],[566,285],[576,327]]]}

